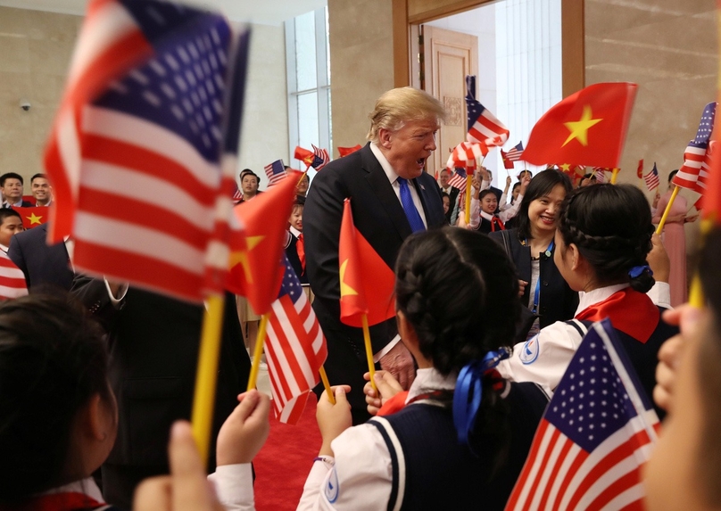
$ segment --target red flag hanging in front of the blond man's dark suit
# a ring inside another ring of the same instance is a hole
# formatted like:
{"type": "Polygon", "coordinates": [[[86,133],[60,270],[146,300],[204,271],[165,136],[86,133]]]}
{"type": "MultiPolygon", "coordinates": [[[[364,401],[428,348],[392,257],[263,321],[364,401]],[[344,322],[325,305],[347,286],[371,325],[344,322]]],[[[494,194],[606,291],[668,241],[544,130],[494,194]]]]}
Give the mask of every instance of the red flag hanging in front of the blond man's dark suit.
{"type": "Polygon", "coordinates": [[[361,317],[376,325],[395,316],[393,270],[353,225],[351,200],[345,199],[338,261],[341,279],[341,321],[362,326],[361,317]]]}

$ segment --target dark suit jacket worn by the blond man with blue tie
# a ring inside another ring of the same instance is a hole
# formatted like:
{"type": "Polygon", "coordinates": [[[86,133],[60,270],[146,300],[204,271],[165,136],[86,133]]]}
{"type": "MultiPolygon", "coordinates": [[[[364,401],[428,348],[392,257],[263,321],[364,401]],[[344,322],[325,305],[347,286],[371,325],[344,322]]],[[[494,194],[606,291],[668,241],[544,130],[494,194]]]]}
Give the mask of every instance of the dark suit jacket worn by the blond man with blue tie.
{"type": "MultiPolygon", "coordinates": [[[[427,226],[443,226],[443,202],[435,179],[424,173],[411,182],[419,193],[427,226]]],[[[350,345],[361,362],[365,359],[362,330],[340,322],[338,240],[346,197],[351,198],[355,227],[390,268],[395,266],[403,240],[411,234],[401,202],[369,144],[331,161],[313,178],[303,210],[303,238],[306,271],[315,293],[313,309],[328,341],[327,369],[335,365],[333,352],[337,343],[350,345]]],[[[396,333],[395,318],[371,326],[374,352],[381,350],[396,333]]],[[[333,383],[350,383],[350,375],[345,381],[333,383]]]]}

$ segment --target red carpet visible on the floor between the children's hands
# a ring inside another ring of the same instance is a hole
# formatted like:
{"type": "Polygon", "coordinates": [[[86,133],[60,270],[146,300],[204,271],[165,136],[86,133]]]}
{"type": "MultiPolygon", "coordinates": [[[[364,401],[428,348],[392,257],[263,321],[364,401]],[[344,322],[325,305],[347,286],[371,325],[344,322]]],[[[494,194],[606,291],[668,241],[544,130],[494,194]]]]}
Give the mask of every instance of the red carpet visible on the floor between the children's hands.
{"type": "Polygon", "coordinates": [[[302,485],[320,449],[316,403],[311,392],[295,425],[281,424],[271,416],[268,441],[253,459],[255,508],[259,511],[286,511],[297,507],[302,485]]]}

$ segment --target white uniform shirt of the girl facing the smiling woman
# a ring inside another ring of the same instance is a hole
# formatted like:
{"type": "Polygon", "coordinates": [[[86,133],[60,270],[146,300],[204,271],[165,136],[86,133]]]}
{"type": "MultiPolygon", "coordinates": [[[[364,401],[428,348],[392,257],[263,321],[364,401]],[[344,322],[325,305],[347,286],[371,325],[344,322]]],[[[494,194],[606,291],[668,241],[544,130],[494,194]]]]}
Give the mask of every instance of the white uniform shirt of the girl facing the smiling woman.
{"type": "MultiPolygon", "coordinates": [[[[574,316],[629,285],[609,285],[588,293],[578,293],[578,309],[574,316]]],[[[647,294],[654,304],[671,309],[671,293],[666,282],[657,282],[647,294]]],[[[581,340],[582,337],[574,326],[565,321],[557,321],[543,328],[528,341],[518,342],[513,347],[510,359],[501,360],[498,371],[513,382],[538,383],[552,397],[581,340]]]]}

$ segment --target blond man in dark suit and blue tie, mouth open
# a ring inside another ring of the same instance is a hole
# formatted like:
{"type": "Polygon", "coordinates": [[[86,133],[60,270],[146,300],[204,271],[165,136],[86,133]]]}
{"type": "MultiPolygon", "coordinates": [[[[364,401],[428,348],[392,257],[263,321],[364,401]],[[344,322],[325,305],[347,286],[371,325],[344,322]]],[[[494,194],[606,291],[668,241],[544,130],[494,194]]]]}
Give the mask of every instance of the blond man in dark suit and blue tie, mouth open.
{"type": "MultiPolygon", "coordinates": [[[[344,199],[351,198],[360,234],[394,268],[406,237],[444,222],[441,191],[424,171],[444,115],[443,105],[423,91],[402,87],[386,92],[370,116],[369,144],[328,163],[314,177],[305,202],[306,270],[315,293],[313,309],[328,343],[325,367],[331,384],[351,385],[348,398],[356,424],[369,417],[362,377],[368,366],[362,330],[340,321],[338,241],[344,199]]],[[[414,361],[400,342],[395,318],[371,326],[370,337],[380,367],[408,388],[414,361]]]]}

